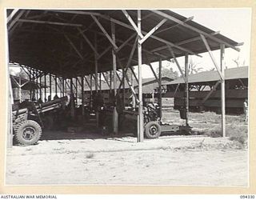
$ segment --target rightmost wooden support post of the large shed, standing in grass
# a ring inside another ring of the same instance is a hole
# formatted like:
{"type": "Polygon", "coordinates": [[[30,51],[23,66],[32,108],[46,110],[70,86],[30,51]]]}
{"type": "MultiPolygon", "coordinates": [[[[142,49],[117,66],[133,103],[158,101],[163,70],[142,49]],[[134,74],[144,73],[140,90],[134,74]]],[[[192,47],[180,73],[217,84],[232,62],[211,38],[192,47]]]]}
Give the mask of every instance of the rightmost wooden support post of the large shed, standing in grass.
{"type": "Polygon", "coordinates": [[[222,90],[222,136],[226,137],[226,97],[225,97],[225,45],[221,44],[221,72],[222,72],[222,83],[221,83],[221,90],[222,90]]]}

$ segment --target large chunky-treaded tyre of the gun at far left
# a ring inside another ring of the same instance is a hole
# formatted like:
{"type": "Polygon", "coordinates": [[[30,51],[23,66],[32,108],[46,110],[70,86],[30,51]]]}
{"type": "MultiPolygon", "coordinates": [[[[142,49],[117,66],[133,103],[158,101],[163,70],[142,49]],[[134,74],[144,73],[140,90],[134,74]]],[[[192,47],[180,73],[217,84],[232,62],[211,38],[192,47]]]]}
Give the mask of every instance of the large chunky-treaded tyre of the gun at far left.
{"type": "Polygon", "coordinates": [[[20,122],[15,129],[15,139],[22,145],[34,145],[41,138],[42,128],[33,120],[20,122]]]}

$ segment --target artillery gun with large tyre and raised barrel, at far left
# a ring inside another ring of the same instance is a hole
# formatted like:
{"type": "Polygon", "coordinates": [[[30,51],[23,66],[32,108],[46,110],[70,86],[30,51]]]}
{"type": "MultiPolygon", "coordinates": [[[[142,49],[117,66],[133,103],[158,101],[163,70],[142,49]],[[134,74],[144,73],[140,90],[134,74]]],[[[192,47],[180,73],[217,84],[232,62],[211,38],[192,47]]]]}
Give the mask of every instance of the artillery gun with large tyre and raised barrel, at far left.
{"type": "Polygon", "coordinates": [[[33,145],[38,142],[44,128],[42,114],[50,116],[51,111],[65,108],[67,100],[67,97],[62,97],[49,102],[22,102],[18,106],[13,106],[13,129],[16,141],[22,145],[33,145]]]}

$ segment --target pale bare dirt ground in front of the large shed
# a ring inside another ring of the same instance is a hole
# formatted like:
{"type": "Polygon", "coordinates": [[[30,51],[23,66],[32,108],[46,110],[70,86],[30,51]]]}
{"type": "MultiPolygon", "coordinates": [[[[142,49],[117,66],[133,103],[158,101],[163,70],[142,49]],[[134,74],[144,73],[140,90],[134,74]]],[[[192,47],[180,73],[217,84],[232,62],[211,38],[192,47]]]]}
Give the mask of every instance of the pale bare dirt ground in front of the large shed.
{"type": "Polygon", "coordinates": [[[248,186],[247,148],[230,138],[45,135],[35,146],[7,150],[7,185],[248,186]]]}

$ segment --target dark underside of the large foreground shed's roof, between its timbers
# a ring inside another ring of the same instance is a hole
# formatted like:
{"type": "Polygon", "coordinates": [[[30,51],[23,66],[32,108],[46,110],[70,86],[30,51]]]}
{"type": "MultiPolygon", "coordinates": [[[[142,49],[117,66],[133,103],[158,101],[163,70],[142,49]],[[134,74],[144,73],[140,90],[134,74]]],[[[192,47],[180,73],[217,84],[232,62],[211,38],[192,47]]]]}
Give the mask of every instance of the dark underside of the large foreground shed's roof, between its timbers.
{"type": "MultiPolygon", "coordinates": [[[[180,14],[170,10],[161,11],[182,22],[186,21],[187,25],[204,31],[206,34],[214,34],[214,38],[222,39],[222,41],[232,46],[239,45],[238,42],[234,42],[222,34],[214,33],[214,30],[188,20],[180,14]]],[[[94,74],[94,51],[82,37],[82,34],[79,34],[79,27],[92,44],[94,44],[94,35],[97,34],[98,52],[100,54],[104,50],[109,49],[98,60],[98,72],[111,70],[112,54],[110,41],[95,24],[88,12],[96,14],[95,16],[108,34],[111,33],[110,20],[112,22],[119,22],[119,24],[116,23],[115,25],[117,46],[121,46],[123,42],[134,34],[134,38],[117,54],[122,65],[125,66],[134,44],[136,32],[122,13],[122,10],[18,10],[16,15],[21,14],[19,15],[21,18],[17,19],[16,23],[19,23],[19,26],[15,26],[12,29],[8,28],[10,61],[64,78],[94,74]],[[47,24],[47,22],[54,22],[55,24],[47,24]],[[59,25],[69,23],[70,26],[59,26],[56,23],[59,25]],[[70,41],[73,45],[70,45],[70,41]],[[74,50],[74,46],[77,50],[74,50]]],[[[137,22],[137,10],[127,10],[127,12],[134,19],[134,22],[137,22]]],[[[7,14],[10,13],[11,10],[7,10],[7,14]]],[[[144,35],[163,19],[165,18],[154,13],[154,10],[142,10],[142,30],[144,35]]],[[[13,20],[16,20],[16,18],[11,19],[9,25],[13,20]]],[[[153,35],[153,37],[158,37],[164,41],[159,42],[156,38],[150,37],[143,43],[142,62],[147,62],[146,54],[149,54],[150,62],[158,61],[160,57],[164,59],[172,58],[170,51],[166,48],[165,41],[193,51],[195,54],[206,52],[206,47],[199,36],[194,30],[178,25],[177,22],[168,19],[153,35]]],[[[206,39],[211,50],[219,49],[219,42],[214,42],[210,38],[206,39]]],[[[173,49],[176,57],[186,54],[180,48],[173,47],[173,49]]],[[[138,54],[135,53],[131,62],[132,66],[138,65],[137,58],[138,54]]],[[[121,68],[122,66],[118,64],[118,69],[121,68]]]]}

